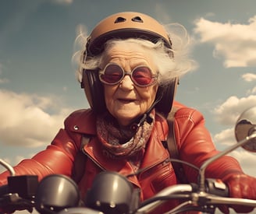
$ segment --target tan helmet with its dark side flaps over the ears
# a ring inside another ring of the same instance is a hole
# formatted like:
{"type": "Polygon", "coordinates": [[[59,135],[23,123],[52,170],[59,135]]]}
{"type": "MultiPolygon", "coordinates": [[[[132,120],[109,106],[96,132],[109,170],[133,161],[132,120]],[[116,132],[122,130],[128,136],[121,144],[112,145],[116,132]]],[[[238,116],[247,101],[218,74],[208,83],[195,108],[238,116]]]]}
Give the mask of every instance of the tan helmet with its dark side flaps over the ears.
{"type": "MultiPolygon", "coordinates": [[[[168,33],[157,20],[140,12],[119,12],[103,19],[94,27],[87,40],[84,60],[87,56],[100,54],[104,50],[105,42],[113,38],[142,38],[153,43],[163,40],[166,47],[172,48],[168,33]]],[[[157,101],[154,105],[157,111],[165,115],[172,108],[176,82],[175,79],[169,86],[158,87],[157,101]]],[[[81,86],[84,88],[92,110],[97,113],[106,111],[103,87],[98,79],[98,72],[84,69],[81,86]]]]}

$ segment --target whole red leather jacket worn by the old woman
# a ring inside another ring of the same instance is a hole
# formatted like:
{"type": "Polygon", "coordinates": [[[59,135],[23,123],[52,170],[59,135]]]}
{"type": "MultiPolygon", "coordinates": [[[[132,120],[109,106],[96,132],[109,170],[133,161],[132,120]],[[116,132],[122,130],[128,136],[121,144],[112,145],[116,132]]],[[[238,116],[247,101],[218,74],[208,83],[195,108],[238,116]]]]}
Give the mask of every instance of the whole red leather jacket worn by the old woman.
{"type": "MultiPolygon", "coordinates": [[[[212,143],[211,136],[204,127],[204,118],[200,112],[174,103],[178,108],[175,116],[176,143],[180,159],[200,167],[208,158],[219,153],[212,143]]],[[[164,118],[156,114],[155,127],[147,144],[140,168],[145,168],[137,176],[129,177],[134,187],[140,188],[142,200],[149,198],[163,188],[177,184],[172,164],[168,161],[169,153],[162,145],[168,134],[168,125],[164,118]]],[[[65,121],[65,128],[60,129],[52,144],[31,160],[23,160],[15,167],[16,174],[37,174],[39,179],[48,174],[73,176],[76,154],[80,151],[83,135],[91,135],[91,141],[84,146],[87,154],[85,164],[76,163],[83,173],[78,182],[81,195],[84,195],[96,174],[102,170],[111,170],[119,174],[133,174],[133,168],[126,160],[112,160],[102,155],[101,145],[96,137],[95,115],[91,110],[80,110],[70,114],[65,121]],[[79,165],[80,164],[80,165],[79,165]]],[[[197,182],[197,171],[184,167],[187,179],[197,182]]],[[[222,178],[228,174],[242,172],[239,163],[232,157],[224,156],[212,163],[206,170],[206,177],[222,178]]],[[[0,184],[5,184],[8,173],[0,175],[0,184]]],[[[176,205],[173,202],[170,206],[176,205]]],[[[158,211],[161,213],[162,211],[158,211]]]]}

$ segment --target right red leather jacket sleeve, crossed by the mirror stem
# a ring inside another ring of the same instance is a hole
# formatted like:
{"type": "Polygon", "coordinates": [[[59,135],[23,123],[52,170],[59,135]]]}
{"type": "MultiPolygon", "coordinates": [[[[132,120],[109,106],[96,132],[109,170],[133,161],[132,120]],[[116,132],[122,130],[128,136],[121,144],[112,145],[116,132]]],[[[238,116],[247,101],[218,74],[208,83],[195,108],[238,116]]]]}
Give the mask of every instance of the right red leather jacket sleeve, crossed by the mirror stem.
{"type": "MultiPolygon", "coordinates": [[[[199,111],[181,108],[176,113],[175,126],[177,146],[182,160],[201,167],[205,160],[219,153],[199,111]]],[[[196,182],[197,170],[184,168],[189,181],[196,182]]],[[[212,178],[222,179],[229,174],[243,174],[240,164],[231,156],[222,156],[215,160],[205,171],[205,176],[212,178]]]]}

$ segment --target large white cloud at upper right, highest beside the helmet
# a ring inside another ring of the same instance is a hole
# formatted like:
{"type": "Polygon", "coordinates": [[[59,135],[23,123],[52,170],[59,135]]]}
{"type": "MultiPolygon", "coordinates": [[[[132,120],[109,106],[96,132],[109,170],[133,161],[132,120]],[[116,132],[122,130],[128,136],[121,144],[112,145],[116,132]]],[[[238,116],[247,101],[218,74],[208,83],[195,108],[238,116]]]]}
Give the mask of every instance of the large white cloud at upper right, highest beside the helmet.
{"type": "Polygon", "coordinates": [[[247,67],[256,65],[256,16],[247,24],[218,23],[197,19],[194,32],[203,43],[214,44],[214,56],[224,58],[224,66],[247,67]]]}

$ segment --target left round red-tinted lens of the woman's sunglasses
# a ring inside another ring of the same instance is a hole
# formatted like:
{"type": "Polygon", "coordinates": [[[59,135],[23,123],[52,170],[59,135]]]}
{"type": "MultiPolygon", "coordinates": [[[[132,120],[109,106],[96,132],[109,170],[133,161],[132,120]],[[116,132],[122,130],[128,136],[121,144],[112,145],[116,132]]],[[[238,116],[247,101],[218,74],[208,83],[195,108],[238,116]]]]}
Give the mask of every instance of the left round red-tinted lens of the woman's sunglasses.
{"type": "Polygon", "coordinates": [[[105,68],[104,74],[101,75],[101,79],[104,82],[115,84],[119,82],[123,77],[123,70],[119,65],[108,65],[105,68]]]}

